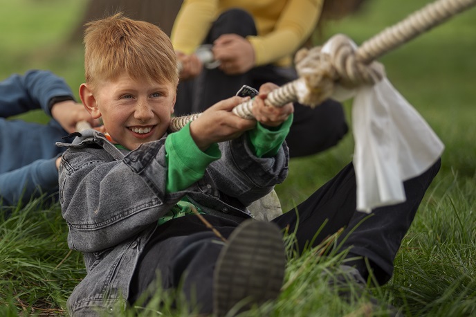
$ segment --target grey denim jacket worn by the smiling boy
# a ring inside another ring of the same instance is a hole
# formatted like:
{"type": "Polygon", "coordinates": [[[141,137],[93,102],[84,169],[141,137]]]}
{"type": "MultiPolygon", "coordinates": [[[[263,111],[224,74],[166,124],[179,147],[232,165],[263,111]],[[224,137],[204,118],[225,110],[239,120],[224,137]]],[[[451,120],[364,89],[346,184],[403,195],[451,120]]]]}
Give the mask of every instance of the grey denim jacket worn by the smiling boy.
{"type": "MultiPolygon", "coordinates": [[[[165,136],[166,137],[166,136],[165,136]]],[[[181,192],[166,193],[165,137],[134,151],[118,150],[89,129],[68,147],[60,165],[60,202],[68,246],[83,253],[87,275],[68,298],[72,316],[118,314],[159,217],[185,194],[202,210],[229,219],[251,217],[253,201],[282,183],[288,172],[284,144],[272,158],[257,158],[246,136],[220,143],[221,159],[181,192]]]]}

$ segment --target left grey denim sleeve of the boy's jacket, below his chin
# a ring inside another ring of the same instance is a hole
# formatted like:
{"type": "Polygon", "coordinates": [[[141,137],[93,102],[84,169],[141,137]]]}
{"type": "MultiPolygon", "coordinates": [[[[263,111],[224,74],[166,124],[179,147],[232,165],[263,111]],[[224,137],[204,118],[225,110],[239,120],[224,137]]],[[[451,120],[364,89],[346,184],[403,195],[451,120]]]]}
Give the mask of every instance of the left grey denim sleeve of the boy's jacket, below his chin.
{"type": "Polygon", "coordinates": [[[183,196],[165,194],[161,143],[145,143],[123,159],[108,159],[106,151],[90,147],[64,152],[60,202],[70,248],[94,252],[116,246],[157,221],[183,196]]]}

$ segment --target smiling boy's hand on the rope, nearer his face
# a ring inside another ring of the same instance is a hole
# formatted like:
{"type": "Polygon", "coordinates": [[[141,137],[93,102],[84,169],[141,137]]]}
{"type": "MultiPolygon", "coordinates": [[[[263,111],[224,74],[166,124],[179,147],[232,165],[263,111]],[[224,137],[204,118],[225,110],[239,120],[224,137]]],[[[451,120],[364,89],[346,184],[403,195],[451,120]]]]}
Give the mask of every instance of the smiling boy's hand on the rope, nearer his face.
{"type": "Polygon", "coordinates": [[[217,102],[203,111],[199,118],[190,123],[190,135],[197,147],[205,151],[213,143],[235,139],[244,132],[253,129],[255,120],[240,118],[232,113],[232,109],[249,97],[232,97],[217,102]]]}

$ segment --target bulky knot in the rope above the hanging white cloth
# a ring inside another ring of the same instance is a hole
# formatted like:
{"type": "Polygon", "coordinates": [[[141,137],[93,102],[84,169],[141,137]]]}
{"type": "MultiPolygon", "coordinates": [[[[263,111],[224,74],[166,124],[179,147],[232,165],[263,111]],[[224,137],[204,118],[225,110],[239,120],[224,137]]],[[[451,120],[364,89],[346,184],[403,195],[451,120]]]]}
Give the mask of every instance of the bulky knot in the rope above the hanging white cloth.
{"type": "Polygon", "coordinates": [[[303,79],[297,83],[297,100],[315,107],[332,95],[335,84],[354,88],[385,77],[382,64],[360,62],[355,52],[356,45],[345,35],[331,37],[324,46],[297,51],[296,70],[303,79]]]}

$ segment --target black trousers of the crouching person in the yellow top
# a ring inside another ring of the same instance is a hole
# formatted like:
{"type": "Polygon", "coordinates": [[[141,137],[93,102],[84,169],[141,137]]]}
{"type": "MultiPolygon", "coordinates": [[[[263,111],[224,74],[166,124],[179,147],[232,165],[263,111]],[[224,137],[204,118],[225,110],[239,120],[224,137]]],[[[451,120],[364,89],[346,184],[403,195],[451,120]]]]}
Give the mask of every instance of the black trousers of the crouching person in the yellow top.
{"type": "MultiPolygon", "coordinates": [[[[255,21],[248,12],[232,9],[214,21],[204,44],[212,44],[220,35],[234,33],[246,37],[257,35],[255,21]]],[[[176,116],[203,112],[220,100],[230,98],[244,85],[259,89],[265,82],[282,86],[297,78],[293,67],[273,64],[257,66],[240,75],[226,75],[220,69],[204,68],[199,77],[178,84],[176,116]]],[[[291,131],[286,138],[291,157],[306,156],[336,145],[348,131],[342,105],[326,100],[311,109],[294,103],[291,131]]]]}

